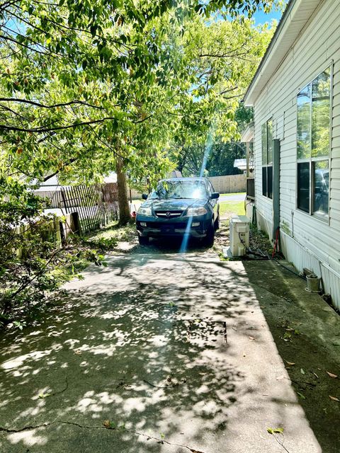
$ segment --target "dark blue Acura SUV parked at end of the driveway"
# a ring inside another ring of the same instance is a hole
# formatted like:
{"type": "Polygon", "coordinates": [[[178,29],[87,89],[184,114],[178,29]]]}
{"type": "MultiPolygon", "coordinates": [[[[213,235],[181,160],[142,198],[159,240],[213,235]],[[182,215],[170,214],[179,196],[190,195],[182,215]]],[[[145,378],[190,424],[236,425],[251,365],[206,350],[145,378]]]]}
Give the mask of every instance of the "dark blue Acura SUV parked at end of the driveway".
{"type": "Polygon", "coordinates": [[[137,211],[140,243],[164,236],[193,236],[205,245],[214,242],[219,226],[219,193],[207,178],[171,178],[159,181],[156,190],[142,195],[146,200],[137,211]]]}

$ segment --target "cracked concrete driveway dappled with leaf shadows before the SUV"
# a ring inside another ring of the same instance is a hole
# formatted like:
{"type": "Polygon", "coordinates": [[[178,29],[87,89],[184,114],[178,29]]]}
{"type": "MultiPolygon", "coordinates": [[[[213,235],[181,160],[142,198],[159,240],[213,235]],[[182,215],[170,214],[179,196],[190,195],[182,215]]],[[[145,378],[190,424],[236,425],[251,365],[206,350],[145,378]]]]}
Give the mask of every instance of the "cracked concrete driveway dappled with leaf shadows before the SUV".
{"type": "Polygon", "coordinates": [[[242,262],[132,254],[84,277],[1,337],[1,452],[322,451],[242,262]]]}

